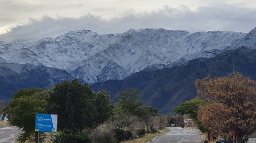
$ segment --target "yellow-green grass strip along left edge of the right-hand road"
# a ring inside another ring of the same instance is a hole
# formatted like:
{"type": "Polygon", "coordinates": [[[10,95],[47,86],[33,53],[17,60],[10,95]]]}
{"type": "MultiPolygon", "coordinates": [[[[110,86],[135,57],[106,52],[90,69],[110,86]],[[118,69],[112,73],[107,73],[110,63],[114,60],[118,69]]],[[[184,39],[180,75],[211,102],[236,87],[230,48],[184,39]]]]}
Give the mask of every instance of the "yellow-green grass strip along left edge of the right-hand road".
{"type": "Polygon", "coordinates": [[[121,142],[121,143],[146,143],[148,141],[151,141],[157,135],[162,134],[162,133],[164,133],[166,131],[167,131],[167,129],[159,130],[158,133],[149,133],[149,134],[146,134],[142,138],[138,138],[138,139],[131,140],[131,141],[126,141],[126,142],[121,142]]]}

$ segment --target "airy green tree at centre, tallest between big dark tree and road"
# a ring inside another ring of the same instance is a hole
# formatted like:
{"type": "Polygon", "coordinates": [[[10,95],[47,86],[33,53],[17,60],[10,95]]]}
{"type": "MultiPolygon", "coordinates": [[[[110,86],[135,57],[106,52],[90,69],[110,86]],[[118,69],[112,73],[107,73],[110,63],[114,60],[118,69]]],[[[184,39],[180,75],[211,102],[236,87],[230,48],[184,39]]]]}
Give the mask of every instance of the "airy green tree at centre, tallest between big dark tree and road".
{"type": "Polygon", "coordinates": [[[125,89],[116,95],[118,96],[118,103],[121,107],[128,111],[130,115],[138,115],[138,108],[143,105],[143,101],[138,101],[140,91],[138,89],[125,89]]]}

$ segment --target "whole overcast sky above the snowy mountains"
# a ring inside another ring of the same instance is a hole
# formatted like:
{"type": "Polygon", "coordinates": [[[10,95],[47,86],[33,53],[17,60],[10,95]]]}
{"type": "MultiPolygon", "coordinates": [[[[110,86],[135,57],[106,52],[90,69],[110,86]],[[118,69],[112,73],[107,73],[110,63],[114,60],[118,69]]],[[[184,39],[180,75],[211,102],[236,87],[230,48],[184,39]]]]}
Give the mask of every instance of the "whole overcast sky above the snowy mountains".
{"type": "Polygon", "coordinates": [[[131,28],[247,33],[255,27],[256,0],[0,0],[0,41],[79,29],[99,34],[131,28]]]}

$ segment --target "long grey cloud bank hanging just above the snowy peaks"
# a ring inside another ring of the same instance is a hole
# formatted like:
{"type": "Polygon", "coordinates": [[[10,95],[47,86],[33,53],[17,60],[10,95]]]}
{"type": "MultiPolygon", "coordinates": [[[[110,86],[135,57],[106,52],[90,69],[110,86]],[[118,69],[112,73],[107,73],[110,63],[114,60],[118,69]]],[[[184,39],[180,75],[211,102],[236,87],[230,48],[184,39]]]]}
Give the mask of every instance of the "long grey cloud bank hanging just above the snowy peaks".
{"type": "Polygon", "coordinates": [[[164,28],[169,30],[211,31],[227,30],[249,32],[256,27],[256,9],[222,4],[199,7],[192,11],[188,6],[178,8],[164,6],[158,11],[125,13],[110,20],[87,14],[79,18],[43,16],[30,19],[26,25],[18,25],[1,34],[0,41],[25,37],[57,37],[72,30],[89,29],[99,34],[121,33],[131,28],[164,28]]]}

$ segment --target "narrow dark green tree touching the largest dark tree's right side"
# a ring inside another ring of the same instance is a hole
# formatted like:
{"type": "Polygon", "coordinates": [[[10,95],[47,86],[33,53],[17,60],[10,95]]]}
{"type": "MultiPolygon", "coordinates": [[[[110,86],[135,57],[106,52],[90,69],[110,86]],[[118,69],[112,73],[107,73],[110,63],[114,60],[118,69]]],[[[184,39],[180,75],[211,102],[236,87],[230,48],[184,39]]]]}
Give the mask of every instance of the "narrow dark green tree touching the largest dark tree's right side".
{"type": "Polygon", "coordinates": [[[113,105],[111,105],[111,100],[105,91],[100,91],[96,94],[94,106],[97,110],[96,123],[102,124],[112,116],[113,105]]]}

